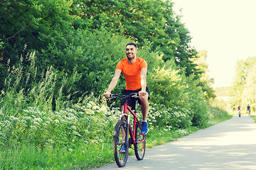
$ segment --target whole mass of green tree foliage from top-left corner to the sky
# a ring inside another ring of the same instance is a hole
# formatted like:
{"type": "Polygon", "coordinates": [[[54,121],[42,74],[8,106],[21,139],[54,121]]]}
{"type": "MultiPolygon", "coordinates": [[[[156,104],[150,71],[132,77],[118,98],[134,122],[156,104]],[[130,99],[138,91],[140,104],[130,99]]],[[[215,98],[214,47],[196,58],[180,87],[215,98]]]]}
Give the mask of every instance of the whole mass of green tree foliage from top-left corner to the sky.
{"type": "MultiPolygon", "coordinates": [[[[149,67],[161,69],[164,63],[160,60],[164,60],[166,69],[181,67],[178,69],[180,74],[186,77],[194,74],[195,80],[200,79],[201,71],[193,63],[193,59],[198,57],[196,50],[188,45],[191,37],[172,11],[172,5],[171,1],[132,0],[6,1],[0,7],[3,14],[0,21],[3,24],[0,25],[8,23],[1,29],[4,41],[1,67],[6,67],[9,59],[10,67],[17,65],[17,54],[25,44],[27,52],[37,52],[35,64],[38,72],[44,72],[51,66],[57,73],[53,105],[62,77],[67,79],[63,95],[68,96],[65,91],[69,91],[70,99],[78,99],[83,93],[99,94],[111,79],[113,65],[123,58],[124,45],[131,41],[124,35],[146,49],[142,52],[146,60],[152,51],[161,53],[158,62],[161,65],[150,59],[149,64],[153,63],[153,66],[149,67]],[[15,10],[17,6],[19,10],[15,10]],[[19,24],[16,26],[8,21],[19,24]]],[[[23,62],[24,69],[26,63],[23,62]]],[[[6,71],[2,75],[6,77],[6,71]]],[[[28,81],[28,86],[29,83],[32,82],[28,81]]],[[[208,84],[198,86],[210,91],[208,84]]]]}

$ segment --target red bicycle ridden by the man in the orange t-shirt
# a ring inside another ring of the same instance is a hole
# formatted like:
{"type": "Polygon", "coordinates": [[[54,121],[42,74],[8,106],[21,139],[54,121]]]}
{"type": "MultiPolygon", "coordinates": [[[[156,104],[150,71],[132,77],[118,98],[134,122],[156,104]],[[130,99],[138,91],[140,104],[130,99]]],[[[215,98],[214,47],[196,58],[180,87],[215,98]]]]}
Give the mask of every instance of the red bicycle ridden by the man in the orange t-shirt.
{"type": "Polygon", "coordinates": [[[139,98],[138,93],[125,95],[112,94],[113,98],[124,99],[124,113],[119,115],[119,120],[114,127],[113,136],[113,147],[114,147],[114,160],[117,166],[123,167],[127,163],[129,148],[134,145],[134,152],[138,160],[142,160],[146,151],[146,135],[141,133],[142,121],[137,117],[137,99],[139,98]],[[127,106],[127,98],[135,98],[136,104],[134,111],[127,106]],[[127,112],[129,111],[129,112],[127,112]],[[133,129],[132,125],[129,123],[129,118],[131,113],[134,117],[133,119],[133,129]],[[125,118],[125,119],[124,119],[125,118]]]}

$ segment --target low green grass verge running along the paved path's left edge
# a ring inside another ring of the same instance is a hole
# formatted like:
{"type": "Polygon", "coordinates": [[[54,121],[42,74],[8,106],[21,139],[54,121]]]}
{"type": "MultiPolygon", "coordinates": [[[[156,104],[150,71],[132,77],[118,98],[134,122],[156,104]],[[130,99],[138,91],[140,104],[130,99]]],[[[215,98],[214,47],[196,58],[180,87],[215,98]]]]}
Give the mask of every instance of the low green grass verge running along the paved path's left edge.
{"type": "MultiPolygon", "coordinates": [[[[223,118],[227,120],[230,116],[223,118]]],[[[114,126],[113,126],[114,128],[114,126]]],[[[146,138],[147,149],[189,135],[198,128],[185,130],[151,130],[146,138]]],[[[130,154],[134,154],[131,149],[130,154]]],[[[91,142],[79,147],[44,147],[31,144],[0,147],[0,169],[95,169],[114,162],[112,140],[108,142],[91,142]]]]}

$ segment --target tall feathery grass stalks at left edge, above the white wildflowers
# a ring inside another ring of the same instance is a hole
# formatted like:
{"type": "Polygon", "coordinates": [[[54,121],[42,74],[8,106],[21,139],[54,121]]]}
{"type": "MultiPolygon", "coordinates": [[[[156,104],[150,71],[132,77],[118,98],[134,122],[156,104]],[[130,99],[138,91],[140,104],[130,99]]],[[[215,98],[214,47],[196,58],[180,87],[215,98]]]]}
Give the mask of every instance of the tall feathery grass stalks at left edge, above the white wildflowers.
{"type": "Polygon", "coordinates": [[[9,77],[4,81],[4,89],[1,90],[1,111],[5,116],[18,115],[27,106],[36,106],[43,110],[51,110],[53,89],[55,86],[55,74],[53,69],[48,68],[46,74],[37,73],[35,67],[35,52],[27,55],[31,63],[28,67],[23,67],[23,56],[18,67],[9,68],[9,77]],[[40,76],[41,81],[35,82],[40,76]]]}

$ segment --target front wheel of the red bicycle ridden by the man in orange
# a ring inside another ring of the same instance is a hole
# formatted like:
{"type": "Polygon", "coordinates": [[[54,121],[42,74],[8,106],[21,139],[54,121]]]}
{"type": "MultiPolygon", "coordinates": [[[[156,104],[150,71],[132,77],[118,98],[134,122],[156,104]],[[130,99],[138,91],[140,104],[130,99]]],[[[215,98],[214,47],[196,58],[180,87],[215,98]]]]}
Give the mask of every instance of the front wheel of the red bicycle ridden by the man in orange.
{"type": "Polygon", "coordinates": [[[114,160],[119,167],[124,166],[127,163],[129,142],[126,141],[127,125],[123,120],[119,120],[117,125],[114,127],[114,160]]]}

